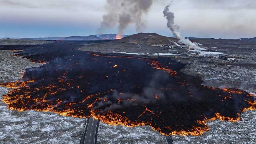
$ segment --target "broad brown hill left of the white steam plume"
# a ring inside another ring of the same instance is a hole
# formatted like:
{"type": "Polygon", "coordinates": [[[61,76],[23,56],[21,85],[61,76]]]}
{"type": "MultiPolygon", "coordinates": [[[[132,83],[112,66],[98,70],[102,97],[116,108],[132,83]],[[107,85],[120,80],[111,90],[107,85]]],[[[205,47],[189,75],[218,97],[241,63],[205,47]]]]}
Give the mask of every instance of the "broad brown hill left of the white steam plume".
{"type": "Polygon", "coordinates": [[[169,45],[172,44],[173,41],[177,42],[177,39],[161,36],[155,33],[138,33],[124,37],[117,42],[169,45]]]}

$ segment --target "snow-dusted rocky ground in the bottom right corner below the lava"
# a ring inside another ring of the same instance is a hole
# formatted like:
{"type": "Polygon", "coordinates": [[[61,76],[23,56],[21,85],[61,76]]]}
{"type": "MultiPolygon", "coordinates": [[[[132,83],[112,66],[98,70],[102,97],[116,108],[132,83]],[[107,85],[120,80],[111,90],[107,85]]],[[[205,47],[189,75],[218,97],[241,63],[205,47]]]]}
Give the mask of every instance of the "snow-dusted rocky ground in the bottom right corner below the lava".
{"type": "Polygon", "coordinates": [[[174,144],[209,143],[209,144],[253,144],[256,143],[256,111],[241,114],[241,121],[229,122],[214,120],[206,123],[210,130],[199,137],[172,136],[174,144]]]}

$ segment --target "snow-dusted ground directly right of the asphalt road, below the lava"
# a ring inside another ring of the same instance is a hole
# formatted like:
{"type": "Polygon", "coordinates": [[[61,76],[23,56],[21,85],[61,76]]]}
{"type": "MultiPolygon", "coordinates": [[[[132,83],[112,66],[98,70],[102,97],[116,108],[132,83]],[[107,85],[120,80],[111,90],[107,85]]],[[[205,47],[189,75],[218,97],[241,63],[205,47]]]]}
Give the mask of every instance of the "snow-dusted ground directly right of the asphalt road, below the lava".
{"type": "Polygon", "coordinates": [[[165,136],[153,131],[150,126],[128,128],[109,126],[100,122],[98,144],[165,144],[165,136]]]}

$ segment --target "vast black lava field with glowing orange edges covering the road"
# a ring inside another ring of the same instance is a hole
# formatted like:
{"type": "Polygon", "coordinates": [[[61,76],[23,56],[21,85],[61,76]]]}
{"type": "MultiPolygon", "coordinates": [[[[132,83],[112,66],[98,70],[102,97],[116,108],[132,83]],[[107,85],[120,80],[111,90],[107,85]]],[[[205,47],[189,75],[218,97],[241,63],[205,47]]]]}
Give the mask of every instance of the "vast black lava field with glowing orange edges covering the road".
{"type": "Polygon", "coordinates": [[[165,58],[97,55],[73,50],[76,43],[31,47],[17,55],[45,63],[27,69],[3,101],[12,110],[38,110],[72,117],[92,116],[110,125],[150,125],[163,135],[202,135],[208,120],[240,120],[255,110],[255,96],[238,89],[201,85],[165,58]],[[46,63],[47,62],[47,63],[46,63]]]}

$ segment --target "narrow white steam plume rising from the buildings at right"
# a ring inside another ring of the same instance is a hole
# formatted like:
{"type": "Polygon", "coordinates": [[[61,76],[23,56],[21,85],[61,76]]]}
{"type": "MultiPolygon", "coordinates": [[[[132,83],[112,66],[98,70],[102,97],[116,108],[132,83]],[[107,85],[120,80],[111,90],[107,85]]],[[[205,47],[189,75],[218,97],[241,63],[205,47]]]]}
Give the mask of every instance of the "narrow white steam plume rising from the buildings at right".
{"type": "Polygon", "coordinates": [[[173,35],[179,40],[180,43],[183,43],[195,50],[205,50],[204,48],[198,47],[195,43],[191,42],[189,39],[184,38],[183,36],[181,36],[180,32],[178,32],[180,27],[174,24],[174,13],[169,12],[169,7],[171,3],[168,4],[163,11],[164,17],[166,17],[168,21],[167,27],[173,32],[173,35]]]}

